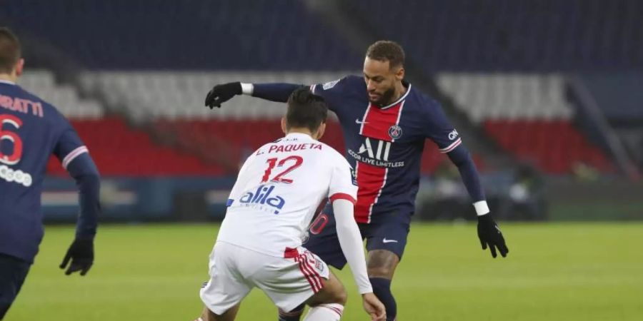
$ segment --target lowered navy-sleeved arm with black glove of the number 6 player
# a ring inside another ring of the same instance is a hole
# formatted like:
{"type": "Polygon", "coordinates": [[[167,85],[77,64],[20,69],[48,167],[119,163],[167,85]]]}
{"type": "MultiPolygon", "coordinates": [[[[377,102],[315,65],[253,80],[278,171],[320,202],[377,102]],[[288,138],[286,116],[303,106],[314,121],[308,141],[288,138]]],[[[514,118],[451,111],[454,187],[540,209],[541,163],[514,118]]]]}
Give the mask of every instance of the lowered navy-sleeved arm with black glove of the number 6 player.
{"type": "Polygon", "coordinates": [[[80,271],[80,275],[86,275],[94,264],[94,236],[101,210],[100,175],[88,153],[74,158],[67,165],[67,171],[76,180],[79,189],[80,215],[76,224],[76,238],[69,246],[60,268],[65,269],[69,265],[66,275],[77,271],[80,271]]]}

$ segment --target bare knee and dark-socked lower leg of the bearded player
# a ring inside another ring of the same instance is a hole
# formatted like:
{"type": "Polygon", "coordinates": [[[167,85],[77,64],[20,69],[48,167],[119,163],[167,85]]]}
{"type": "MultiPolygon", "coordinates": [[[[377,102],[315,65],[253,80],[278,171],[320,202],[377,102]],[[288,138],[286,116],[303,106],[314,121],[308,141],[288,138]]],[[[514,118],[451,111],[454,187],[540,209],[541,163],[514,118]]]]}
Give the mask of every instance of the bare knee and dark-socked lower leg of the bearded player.
{"type": "Polygon", "coordinates": [[[387,321],[395,320],[397,315],[397,303],[391,292],[391,280],[398,264],[399,258],[389,250],[369,251],[367,258],[369,280],[373,285],[373,292],[387,308],[387,321]]]}

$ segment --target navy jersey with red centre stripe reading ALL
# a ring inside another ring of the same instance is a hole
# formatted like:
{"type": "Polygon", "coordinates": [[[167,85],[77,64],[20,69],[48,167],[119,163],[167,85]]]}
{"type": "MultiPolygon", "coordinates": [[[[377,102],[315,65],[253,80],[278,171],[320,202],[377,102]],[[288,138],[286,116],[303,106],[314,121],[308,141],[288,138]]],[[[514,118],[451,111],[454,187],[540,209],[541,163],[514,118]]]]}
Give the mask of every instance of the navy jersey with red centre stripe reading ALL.
{"type": "Polygon", "coordinates": [[[345,156],[359,187],[358,223],[377,222],[379,213],[412,215],[425,139],[434,141],[442,153],[462,142],[437,101],[404,85],[406,93],[389,106],[370,103],[359,76],[311,86],[342,126],[345,156]]]}

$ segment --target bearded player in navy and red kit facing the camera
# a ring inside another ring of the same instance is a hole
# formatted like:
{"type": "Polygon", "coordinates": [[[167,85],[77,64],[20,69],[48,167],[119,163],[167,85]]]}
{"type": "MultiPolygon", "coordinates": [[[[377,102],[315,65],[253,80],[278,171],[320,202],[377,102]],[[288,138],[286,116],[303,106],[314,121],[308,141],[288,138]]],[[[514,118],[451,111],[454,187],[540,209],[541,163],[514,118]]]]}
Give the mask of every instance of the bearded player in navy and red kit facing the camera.
{"type": "MultiPolygon", "coordinates": [[[[302,85],[291,83],[225,83],[206,96],[210,108],[235,95],[286,102],[302,85]]],[[[404,81],[404,50],[393,41],[377,41],[367,50],[362,76],[310,86],[323,96],[339,118],[346,142],[345,157],[359,187],[355,220],[367,240],[367,266],[374,293],[395,320],[397,304],[391,292],[395,268],[402,259],[415,210],[424,140],[429,138],[457,165],[473,200],[482,249],[494,258],[509,249],[489,213],[469,151],[434,99],[404,81]]],[[[334,233],[332,208],[314,220],[306,248],[337,268],[346,264],[334,233]]],[[[280,311],[279,320],[299,320],[303,306],[280,311]]]]}

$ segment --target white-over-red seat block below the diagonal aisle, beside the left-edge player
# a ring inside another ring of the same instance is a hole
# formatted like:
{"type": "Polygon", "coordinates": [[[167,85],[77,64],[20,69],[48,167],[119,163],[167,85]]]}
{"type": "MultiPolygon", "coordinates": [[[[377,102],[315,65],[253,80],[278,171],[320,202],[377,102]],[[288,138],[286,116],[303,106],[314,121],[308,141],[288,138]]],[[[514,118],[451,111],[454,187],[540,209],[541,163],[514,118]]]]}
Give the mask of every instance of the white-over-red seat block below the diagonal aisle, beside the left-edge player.
{"type": "MultiPolygon", "coordinates": [[[[168,146],[157,146],[148,133],[129,128],[122,118],[104,116],[101,103],[83,99],[74,86],[56,83],[54,74],[46,70],[30,70],[20,78],[20,86],[53,104],[71,121],[101,173],[107,176],[127,175],[219,175],[216,164],[168,146]]],[[[47,165],[50,175],[66,176],[60,162],[51,158],[47,165]]]]}

